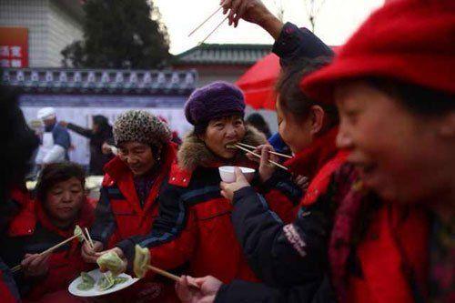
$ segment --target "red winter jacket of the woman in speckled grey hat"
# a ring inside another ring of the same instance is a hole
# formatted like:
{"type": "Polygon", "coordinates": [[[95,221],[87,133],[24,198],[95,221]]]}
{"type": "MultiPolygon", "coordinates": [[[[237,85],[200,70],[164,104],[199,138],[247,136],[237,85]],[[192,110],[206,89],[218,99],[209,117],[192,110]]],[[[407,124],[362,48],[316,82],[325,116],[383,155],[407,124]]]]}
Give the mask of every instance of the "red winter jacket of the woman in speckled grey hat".
{"type": "Polygon", "coordinates": [[[126,247],[127,242],[119,242],[126,239],[135,242],[136,236],[144,236],[150,232],[153,220],[158,214],[159,188],[176,157],[175,145],[167,145],[163,155],[163,162],[154,176],[153,186],[143,207],[136,195],[133,173],[126,164],[119,157],[106,164],[106,176],[92,228],[93,238],[105,243],[105,248],[120,246],[127,255],[131,255],[131,246],[126,247]],[[128,251],[125,251],[126,249],[128,251]]]}

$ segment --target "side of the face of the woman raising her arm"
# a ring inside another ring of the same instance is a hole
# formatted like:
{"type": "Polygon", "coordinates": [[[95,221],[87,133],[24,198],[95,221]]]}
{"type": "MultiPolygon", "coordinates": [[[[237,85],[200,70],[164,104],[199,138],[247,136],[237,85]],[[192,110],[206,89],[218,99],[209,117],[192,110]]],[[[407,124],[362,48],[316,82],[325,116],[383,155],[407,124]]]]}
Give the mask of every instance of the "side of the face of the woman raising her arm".
{"type": "Polygon", "coordinates": [[[277,98],[276,108],[279,136],[289,146],[292,153],[297,154],[312,142],[310,118],[298,121],[295,116],[282,108],[279,97],[277,98]]]}

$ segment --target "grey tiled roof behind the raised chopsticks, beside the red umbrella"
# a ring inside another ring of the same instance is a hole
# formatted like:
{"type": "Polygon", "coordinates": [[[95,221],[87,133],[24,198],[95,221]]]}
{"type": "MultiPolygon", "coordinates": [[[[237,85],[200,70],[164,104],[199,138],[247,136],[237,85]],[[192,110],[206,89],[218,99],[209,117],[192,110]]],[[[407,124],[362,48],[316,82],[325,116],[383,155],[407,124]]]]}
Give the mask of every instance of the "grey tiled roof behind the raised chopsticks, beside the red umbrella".
{"type": "Polygon", "coordinates": [[[255,64],[271,52],[272,45],[203,44],[177,55],[176,65],[242,65],[255,64]]]}

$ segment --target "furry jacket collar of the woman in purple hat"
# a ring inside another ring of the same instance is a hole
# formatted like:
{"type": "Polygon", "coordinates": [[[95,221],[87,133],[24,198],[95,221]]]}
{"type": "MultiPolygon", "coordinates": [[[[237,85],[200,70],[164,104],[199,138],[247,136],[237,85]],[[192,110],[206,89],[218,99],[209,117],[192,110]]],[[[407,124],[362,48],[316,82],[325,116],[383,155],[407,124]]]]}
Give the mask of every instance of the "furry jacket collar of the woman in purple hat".
{"type": "MultiPolygon", "coordinates": [[[[266,144],[267,139],[264,135],[251,126],[247,126],[247,132],[242,140],[251,146],[258,146],[266,144]]],[[[187,170],[188,172],[194,171],[197,167],[219,167],[227,165],[226,161],[217,157],[211,152],[204,141],[202,141],[194,132],[190,132],[185,136],[182,146],[177,153],[178,167],[187,170]]],[[[251,161],[245,156],[245,153],[238,151],[237,156],[229,160],[232,164],[246,163],[251,165],[251,161]]]]}

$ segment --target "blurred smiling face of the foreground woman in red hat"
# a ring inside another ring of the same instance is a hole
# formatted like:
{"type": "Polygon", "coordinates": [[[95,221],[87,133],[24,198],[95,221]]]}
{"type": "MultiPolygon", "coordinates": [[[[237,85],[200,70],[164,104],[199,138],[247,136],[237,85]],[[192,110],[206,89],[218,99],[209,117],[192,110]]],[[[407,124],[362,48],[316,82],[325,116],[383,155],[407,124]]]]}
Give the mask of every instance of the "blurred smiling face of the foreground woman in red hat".
{"type": "Polygon", "coordinates": [[[439,119],[410,113],[399,100],[364,82],[339,86],[335,96],[337,144],[350,151],[349,161],[367,187],[398,202],[434,200],[450,188],[454,142],[438,135],[439,119]]]}

